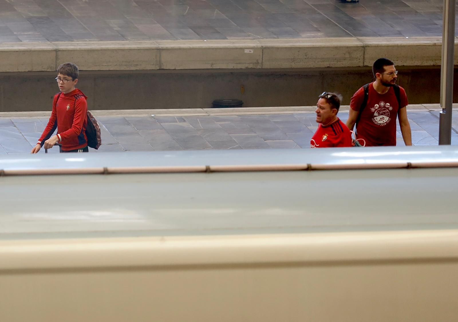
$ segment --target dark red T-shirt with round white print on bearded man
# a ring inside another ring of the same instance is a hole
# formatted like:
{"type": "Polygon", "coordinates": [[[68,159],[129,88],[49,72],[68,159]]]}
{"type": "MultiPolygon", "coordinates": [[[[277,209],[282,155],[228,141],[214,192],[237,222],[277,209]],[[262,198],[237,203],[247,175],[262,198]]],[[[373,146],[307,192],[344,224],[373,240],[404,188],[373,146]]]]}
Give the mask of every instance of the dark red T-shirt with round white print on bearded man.
{"type": "MultiPolygon", "coordinates": [[[[356,125],[356,138],[364,139],[365,146],[396,145],[396,118],[399,108],[409,104],[404,89],[399,86],[401,106],[393,87],[385,94],[379,94],[369,85],[367,105],[363,109],[360,121],[356,125]]],[[[350,107],[359,112],[364,100],[364,88],[361,87],[351,98],[350,107]]]]}

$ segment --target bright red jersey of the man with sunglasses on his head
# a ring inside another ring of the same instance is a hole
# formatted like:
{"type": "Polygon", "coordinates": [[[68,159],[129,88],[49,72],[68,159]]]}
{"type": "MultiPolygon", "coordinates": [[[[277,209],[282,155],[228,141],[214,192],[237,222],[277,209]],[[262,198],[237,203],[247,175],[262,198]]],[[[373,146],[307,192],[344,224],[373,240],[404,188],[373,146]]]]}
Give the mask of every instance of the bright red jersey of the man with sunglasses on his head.
{"type": "Polygon", "coordinates": [[[333,148],[352,146],[351,132],[339,118],[327,126],[318,125],[310,140],[311,148],[333,148]]]}

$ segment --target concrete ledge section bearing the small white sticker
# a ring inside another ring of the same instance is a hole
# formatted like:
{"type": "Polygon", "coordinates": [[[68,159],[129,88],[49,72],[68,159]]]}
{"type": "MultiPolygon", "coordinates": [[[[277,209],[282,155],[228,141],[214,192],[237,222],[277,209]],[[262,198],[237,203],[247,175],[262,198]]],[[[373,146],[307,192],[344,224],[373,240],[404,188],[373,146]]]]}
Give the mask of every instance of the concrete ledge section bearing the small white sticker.
{"type": "Polygon", "coordinates": [[[157,41],[161,69],[261,68],[262,48],[256,41],[157,41]]]}

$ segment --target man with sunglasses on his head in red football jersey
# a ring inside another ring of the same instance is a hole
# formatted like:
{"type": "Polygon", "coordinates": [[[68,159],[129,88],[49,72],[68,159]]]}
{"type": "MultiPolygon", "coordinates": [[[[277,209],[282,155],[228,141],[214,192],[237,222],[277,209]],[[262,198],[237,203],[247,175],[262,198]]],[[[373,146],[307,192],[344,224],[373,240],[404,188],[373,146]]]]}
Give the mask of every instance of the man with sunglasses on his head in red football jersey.
{"type": "Polygon", "coordinates": [[[310,140],[311,148],[352,146],[351,133],[338,117],[342,96],[323,92],[316,103],[318,129],[310,140]]]}

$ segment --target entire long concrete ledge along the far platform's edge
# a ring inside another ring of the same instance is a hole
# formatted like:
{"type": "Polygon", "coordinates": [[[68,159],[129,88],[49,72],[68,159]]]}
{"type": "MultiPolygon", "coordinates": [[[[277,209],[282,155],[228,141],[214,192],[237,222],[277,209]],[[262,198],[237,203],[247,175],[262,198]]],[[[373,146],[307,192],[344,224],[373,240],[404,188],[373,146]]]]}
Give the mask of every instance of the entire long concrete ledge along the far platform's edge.
{"type": "Polygon", "coordinates": [[[3,43],[0,72],[55,71],[66,61],[81,70],[358,67],[379,57],[434,66],[441,64],[441,43],[440,37],[3,43]]]}

